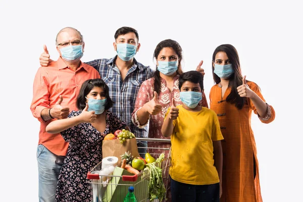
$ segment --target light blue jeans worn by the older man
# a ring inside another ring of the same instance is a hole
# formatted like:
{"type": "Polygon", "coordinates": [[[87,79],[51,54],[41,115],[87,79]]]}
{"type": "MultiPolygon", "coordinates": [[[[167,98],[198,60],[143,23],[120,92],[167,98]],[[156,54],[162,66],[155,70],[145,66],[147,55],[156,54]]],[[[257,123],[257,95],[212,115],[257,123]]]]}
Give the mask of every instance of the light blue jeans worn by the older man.
{"type": "Polygon", "coordinates": [[[57,182],[65,156],[57,156],[45,146],[39,144],[37,147],[38,179],[39,179],[39,201],[53,202],[57,182]]]}

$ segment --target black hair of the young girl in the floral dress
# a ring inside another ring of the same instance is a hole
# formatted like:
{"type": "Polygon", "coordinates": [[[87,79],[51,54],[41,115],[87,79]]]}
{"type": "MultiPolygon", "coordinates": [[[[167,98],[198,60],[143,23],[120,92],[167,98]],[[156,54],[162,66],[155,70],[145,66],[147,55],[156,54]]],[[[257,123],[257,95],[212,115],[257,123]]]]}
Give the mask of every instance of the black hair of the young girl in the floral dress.
{"type": "Polygon", "coordinates": [[[76,106],[79,110],[83,110],[86,107],[86,97],[87,94],[91,91],[93,87],[100,87],[103,88],[106,94],[106,103],[105,103],[105,110],[109,110],[113,107],[113,100],[109,94],[109,86],[104,82],[102,79],[88,79],[84,81],[80,88],[79,95],[77,97],[76,106]]]}

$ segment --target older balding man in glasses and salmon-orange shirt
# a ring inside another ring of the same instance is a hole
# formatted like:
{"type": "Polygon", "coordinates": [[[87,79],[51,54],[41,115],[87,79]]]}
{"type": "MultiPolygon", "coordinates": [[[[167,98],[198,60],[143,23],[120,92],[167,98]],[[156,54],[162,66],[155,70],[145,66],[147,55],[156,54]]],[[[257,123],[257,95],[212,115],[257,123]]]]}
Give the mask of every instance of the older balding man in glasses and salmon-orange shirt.
{"type": "MultiPolygon", "coordinates": [[[[77,110],[76,98],[84,81],[100,78],[93,67],[80,61],[84,41],[77,29],[66,27],[60,30],[56,46],[60,57],[48,67],[38,69],[30,107],[33,116],[40,121],[37,148],[39,201],[55,201],[58,176],[68,148],[60,133],[49,134],[45,128],[54,119],[67,118],[71,110],[77,110]]],[[[47,52],[46,47],[44,50],[47,52]]]]}

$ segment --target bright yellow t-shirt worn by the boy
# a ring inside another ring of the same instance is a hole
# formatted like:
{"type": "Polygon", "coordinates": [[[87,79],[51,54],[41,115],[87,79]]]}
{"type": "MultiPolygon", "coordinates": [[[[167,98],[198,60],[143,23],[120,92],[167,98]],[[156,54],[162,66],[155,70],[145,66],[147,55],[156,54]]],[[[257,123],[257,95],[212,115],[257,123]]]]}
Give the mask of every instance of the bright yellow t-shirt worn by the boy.
{"type": "Polygon", "coordinates": [[[221,140],[223,136],[216,113],[205,107],[199,112],[187,111],[182,105],[177,108],[179,116],[173,121],[171,135],[171,178],[194,185],[218,183],[213,141],[221,140]]]}

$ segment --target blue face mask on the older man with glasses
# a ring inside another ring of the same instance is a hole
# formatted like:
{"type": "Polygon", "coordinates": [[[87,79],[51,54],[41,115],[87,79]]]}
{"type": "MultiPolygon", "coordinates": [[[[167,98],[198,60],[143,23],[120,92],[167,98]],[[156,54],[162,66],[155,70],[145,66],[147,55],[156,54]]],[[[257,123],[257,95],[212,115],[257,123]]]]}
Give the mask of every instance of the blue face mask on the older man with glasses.
{"type": "Polygon", "coordinates": [[[69,45],[60,49],[61,57],[67,62],[79,61],[83,56],[82,45],[69,45]]]}

